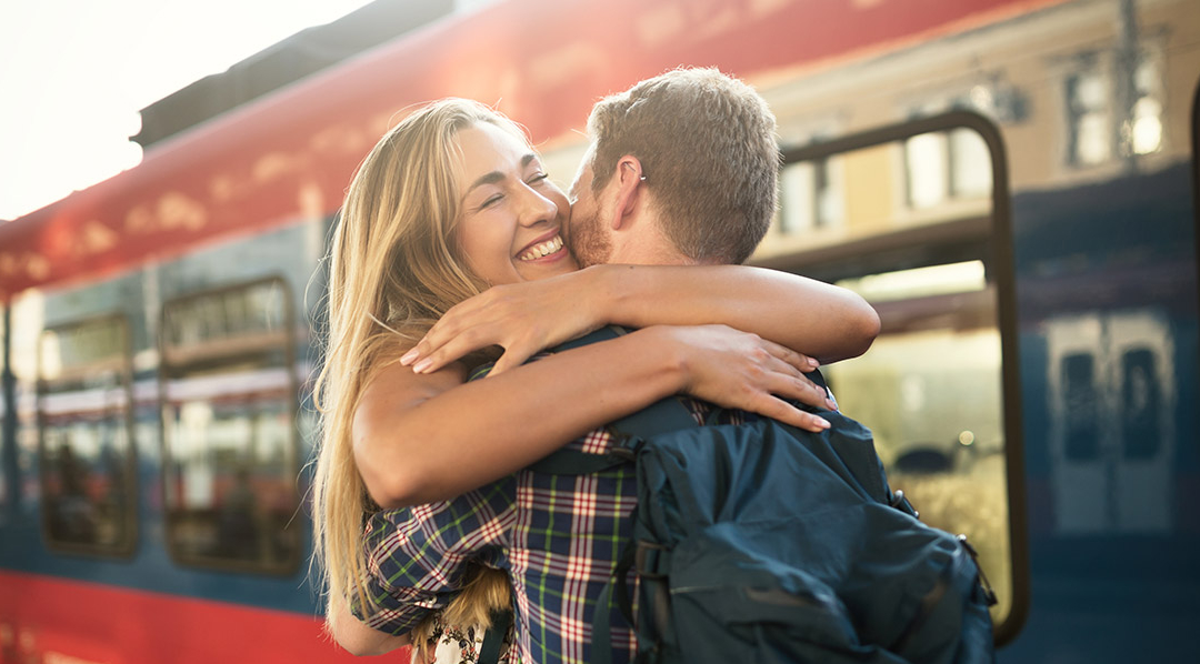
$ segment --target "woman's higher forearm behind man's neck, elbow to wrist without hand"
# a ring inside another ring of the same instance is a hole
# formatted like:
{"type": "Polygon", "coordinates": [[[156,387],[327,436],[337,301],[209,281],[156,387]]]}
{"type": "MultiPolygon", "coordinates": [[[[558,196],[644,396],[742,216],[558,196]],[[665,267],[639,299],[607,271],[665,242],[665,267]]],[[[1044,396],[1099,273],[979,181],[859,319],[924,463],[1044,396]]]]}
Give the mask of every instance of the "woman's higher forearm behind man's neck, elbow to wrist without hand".
{"type": "Polygon", "coordinates": [[[862,355],[880,332],[851,290],[744,265],[598,265],[580,273],[605,322],[704,325],[754,332],[822,363],[862,355]]]}

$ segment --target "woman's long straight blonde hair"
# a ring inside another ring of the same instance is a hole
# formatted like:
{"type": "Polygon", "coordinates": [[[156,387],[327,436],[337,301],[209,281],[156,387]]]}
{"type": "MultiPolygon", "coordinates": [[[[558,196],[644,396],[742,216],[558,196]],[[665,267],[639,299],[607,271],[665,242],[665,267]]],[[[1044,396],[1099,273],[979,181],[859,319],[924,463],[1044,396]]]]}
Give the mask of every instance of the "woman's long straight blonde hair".
{"type": "MultiPolygon", "coordinates": [[[[347,191],[329,256],[324,366],[313,400],[322,439],[313,477],[313,562],[329,597],[356,598],[370,612],[364,524],[378,507],[354,464],[354,411],[379,368],[395,362],[454,304],[486,284],[455,241],[458,217],[460,131],[487,122],[528,144],[496,110],[468,99],[427,104],[389,131],[367,155],[347,191]]],[[[508,578],[473,572],[444,612],[449,624],[488,623],[509,604],[508,578]]],[[[424,647],[431,621],[413,632],[424,647]]]]}

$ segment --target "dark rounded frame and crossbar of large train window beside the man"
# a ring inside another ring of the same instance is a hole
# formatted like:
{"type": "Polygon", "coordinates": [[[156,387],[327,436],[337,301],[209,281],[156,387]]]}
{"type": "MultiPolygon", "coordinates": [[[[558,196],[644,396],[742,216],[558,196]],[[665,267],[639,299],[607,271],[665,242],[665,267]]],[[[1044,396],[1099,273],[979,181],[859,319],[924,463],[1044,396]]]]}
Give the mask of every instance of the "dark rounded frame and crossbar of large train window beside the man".
{"type": "Polygon", "coordinates": [[[1012,225],[1012,198],[1008,156],[1000,128],[971,110],[949,110],[926,117],[868,129],[827,141],[782,151],[782,164],[834,158],[857,150],[887,144],[904,145],[907,139],[928,133],[948,135],[954,129],[977,132],[991,159],[991,212],[914,228],[901,228],[830,247],[800,250],[756,261],[780,270],[803,266],[805,273],[824,280],[863,273],[886,262],[902,268],[904,261],[922,264],[935,249],[940,256],[982,258],[996,284],[996,322],[1001,343],[1001,397],[1004,427],[1006,488],[1008,491],[1009,560],[1013,573],[1013,604],[1004,621],[996,624],[997,646],[1020,632],[1030,609],[1028,520],[1025,500],[1025,454],[1016,331],[1016,268],[1012,225]]]}

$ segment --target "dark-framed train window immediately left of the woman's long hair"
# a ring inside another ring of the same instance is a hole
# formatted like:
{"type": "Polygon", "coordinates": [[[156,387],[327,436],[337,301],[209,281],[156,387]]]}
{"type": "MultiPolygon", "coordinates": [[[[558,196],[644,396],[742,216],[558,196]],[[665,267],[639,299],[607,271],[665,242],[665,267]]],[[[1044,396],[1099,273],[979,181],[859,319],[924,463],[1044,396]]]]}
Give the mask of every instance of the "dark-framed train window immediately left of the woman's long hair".
{"type": "Polygon", "coordinates": [[[299,562],[294,313],[282,279],[163,306],[168,544],[180,562],[290,573],[299,562]]]}

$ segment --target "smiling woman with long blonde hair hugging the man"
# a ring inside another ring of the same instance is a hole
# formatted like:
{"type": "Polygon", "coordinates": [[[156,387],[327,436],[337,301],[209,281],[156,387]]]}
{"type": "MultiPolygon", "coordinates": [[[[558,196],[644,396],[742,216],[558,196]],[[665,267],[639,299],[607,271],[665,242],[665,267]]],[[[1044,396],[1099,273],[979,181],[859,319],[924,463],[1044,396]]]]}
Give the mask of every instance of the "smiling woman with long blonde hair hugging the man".
{"type": "MultiPolygon", "coordinates": [[[[828,427],[784,400],[824,405],[824,394],[802,375],[815,363],[786,346],[842,357],[862,352],[874,338],[877,319],[857,296],[798,277],[730,266],[600,266],[576,273],[562,241],[568,215],[565,197],[520,128],[474,102],[449,99],[414,113],[355,175],[330,265],[328,349],[317,381],[324,431],[313,494],[330,624],[348,650],[407,642],[407,635],[371,630],[366,645],[344,636],[361,627],[344,609],[352,598],[366,604],[362,524],[378,507],[450,499],[680,392],[810,429],[828,427]],[[443,327],[414,363],[410,351],[452,307],[463,303],[458,315],[478,307],[470,298],[490,286],[533,280],[542,282],[533,291],[493,288],[484,303],[491,309],[535,292],[530,300],[544,309],[562,310],[554,303],[566,301],[570,320],[551,316],[553,324],[545,325],[547,318],[538,316],[538,325],[524,326],[534,332],[520,342],[503,331],[511,325],[500,324],[502,332],[478,333],[457,350],[444,342],[456,331],[443,327]],[[598,292],[635,297],[589,297],[598,292]],[[653,308],[644,306],[646,292],[655,295],[653,308]],[[696,292],[704,294],[702,307],[696,292]],[[781,302],[794,309],[781,312],[781,302]],[[821,316],[800,315],[814,308],[821,316]],[[784,343],[692,326],[714,316],[784,343]],[[815,318],[821,320],[804,322],[815,318]],[[638,330],[515,366],[606,322],[638,330]],[[512,368],[500,375],[464,384],[469,367],[487,358],[481,354],[446,363],[492,342],[511,354],[500,369],[512,368]]],[[[497,594],[496,585],[474,587],[497,594]]],[[[451,604],[448,622],[486,621],[490,604],[469,596],[451,604]]],[[[414,639],[425,644],[424,636],[414,639]]]]}

